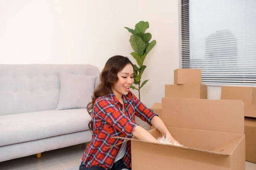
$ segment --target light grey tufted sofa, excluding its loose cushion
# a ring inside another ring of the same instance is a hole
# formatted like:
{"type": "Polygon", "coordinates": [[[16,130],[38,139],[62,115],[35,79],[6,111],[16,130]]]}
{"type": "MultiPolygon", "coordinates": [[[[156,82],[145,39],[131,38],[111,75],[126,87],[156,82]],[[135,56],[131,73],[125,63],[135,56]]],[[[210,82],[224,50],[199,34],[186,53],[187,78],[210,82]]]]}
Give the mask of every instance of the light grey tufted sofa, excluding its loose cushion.
{"type": "Polygon", "coordinates": [[[86,108],[55,110],[61,72],[99,81],[93,65],[0,65],[0,162],[90,142],[86,108]]]}

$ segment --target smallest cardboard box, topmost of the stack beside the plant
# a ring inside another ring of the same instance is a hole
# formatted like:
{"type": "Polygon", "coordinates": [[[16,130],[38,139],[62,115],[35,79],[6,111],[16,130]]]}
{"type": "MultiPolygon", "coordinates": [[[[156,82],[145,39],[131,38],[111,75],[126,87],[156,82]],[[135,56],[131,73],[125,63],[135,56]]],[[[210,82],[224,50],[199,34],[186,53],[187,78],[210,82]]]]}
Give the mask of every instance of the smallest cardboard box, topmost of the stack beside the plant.
{"type": "Polygon", "coordinates": [[[201,84],[201,69],[179,68],[174,71],[174,84],[201,84]]]}

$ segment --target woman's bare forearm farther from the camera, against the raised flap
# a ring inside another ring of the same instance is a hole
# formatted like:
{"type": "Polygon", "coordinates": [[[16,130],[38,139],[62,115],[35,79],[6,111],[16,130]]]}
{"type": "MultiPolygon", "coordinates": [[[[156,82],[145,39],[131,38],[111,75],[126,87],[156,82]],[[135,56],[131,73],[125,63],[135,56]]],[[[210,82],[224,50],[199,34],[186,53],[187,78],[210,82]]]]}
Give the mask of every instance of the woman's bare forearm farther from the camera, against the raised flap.
{"type": "Polygon", "coordinates": [[[162,119],[160,119],[158,116],[154,116],[151,119],[151,124],[157,129],[159,130],[163,135],[165,135],[166,137],[169,137],[171,139],[171,142],[175,142],[180,144],[179,142],[177,142],[176,139],[174,139],[171,135],[171,133],[169,132],[169,130],[167,129],[166,125],[164,124],[164,122],[162,121],[162,119]]]}

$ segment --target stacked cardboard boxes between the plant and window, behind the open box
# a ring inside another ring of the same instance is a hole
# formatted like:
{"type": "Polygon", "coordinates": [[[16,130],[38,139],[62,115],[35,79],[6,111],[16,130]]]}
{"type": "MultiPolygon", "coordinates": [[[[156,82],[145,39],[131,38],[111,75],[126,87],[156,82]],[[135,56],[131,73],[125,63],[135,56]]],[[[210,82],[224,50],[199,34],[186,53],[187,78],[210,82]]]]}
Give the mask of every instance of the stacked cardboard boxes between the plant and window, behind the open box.
{"type": "MultiPolygon", "coordinates": [[[[174,71],[174,85],[165,85],[165,97],[207,99],[207,85],[202,85],[201,69],[178,68],[174,71]]],[[[153,108],[161,118],[160,103],[153,108]]],[[[154,129],[154,126],[151,126],[154,129]]]]}

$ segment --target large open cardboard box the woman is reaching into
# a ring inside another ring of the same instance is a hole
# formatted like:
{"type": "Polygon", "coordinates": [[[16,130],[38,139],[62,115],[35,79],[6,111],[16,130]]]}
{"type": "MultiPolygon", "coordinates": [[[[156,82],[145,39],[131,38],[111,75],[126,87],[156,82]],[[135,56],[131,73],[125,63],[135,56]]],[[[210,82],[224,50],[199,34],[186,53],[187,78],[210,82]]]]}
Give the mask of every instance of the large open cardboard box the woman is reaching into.
{"type": "MultiPolygon", "coordinates": [[[[243,106],[236,100],[163,98],[163,122],[184,147],[128,139],[132,169],[245,170],[243,106]]],[[[157,129],[149,133],[162,136],[157,129]]]]}

